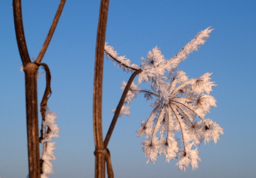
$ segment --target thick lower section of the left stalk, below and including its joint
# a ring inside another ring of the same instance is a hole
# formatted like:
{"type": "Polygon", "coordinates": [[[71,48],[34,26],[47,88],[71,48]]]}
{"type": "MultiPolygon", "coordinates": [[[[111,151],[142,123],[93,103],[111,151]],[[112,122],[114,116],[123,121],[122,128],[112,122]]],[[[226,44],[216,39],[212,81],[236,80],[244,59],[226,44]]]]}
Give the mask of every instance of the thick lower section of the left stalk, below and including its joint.
{"type": "Polygon", "coordinates": [[[30,178],[40,178],[41,176],[38,139],[37,70],[38,66],[35,63],[28,63],[24,68],[30,178]]]}

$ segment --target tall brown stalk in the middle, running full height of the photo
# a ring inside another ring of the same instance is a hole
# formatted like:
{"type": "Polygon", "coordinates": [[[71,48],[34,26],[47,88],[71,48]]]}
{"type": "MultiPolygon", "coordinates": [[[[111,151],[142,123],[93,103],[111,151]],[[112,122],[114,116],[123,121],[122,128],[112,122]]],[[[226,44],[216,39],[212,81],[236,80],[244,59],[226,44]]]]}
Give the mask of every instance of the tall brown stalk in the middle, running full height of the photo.
{"type": "Polygon", "coordinates": [[[95,54],[94,69],[94,89],[93,89],[93,132],[95,143],[95,177],[105,178],[105,156],[106,149],[103,142],[102,133],[102,80],[103,80],[103,60],[104,45],[107,28],[109,0],[102,0],[100,4],[100,15],[97,32],[97,44],[95,54]]]}

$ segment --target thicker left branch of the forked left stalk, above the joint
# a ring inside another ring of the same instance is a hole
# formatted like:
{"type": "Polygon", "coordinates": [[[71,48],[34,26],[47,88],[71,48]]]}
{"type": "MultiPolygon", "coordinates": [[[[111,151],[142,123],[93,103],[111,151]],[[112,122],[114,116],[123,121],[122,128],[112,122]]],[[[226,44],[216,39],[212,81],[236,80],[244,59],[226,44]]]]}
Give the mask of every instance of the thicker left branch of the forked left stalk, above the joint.
{"type": "Polygon", "coordinates": [[[26,44],[23,21],[22,21],[22,11],[21,11],[21,0],[13,0],[13,17],[17,44],[19,47],[20,58],[23,66],[26,66],[30,62],[28,48],[26,44]]]}

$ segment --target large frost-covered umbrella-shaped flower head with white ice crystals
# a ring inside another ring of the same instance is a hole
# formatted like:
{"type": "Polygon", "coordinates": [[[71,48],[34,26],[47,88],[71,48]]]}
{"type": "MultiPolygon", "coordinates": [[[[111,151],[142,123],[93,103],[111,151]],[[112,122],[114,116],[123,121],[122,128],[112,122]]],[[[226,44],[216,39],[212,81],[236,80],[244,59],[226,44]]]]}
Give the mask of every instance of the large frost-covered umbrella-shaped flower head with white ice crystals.
{"type": "MultiPolygon", "coordinates": [[[[105,44],[105,53],[122,67],[124,71],[138,71],[138,85],[134,82],[129,86],[124,103],[130,104],[137,93],[144,93],[147,100],[156,98],[151,104],[153,111],[141,123],[137,136],[145,135],[142,149],[149,161],[155,162],[157,156],[165,155],[169,162],[178,158],[177,166],[186,171],[189,165],[198,168],[198,146],[204,140],[217,143],[223,129],[211,119],[205,119],[211,107],[216,107],[216,100],[210,95],[212,74],[206,73],[198,78],[188,78],[184,71],[177,67],[185,60],[189,53],[197,51],[203,45],[213,29],[207,28],[196,35],[172,59],[166,60],[159,48],[148,52],[147,58],[141,58],[140,66],[130,64],[131,60],[125,56],[118,56],[112,46],[105,44]],[[139,88],[142,82],[151,84],[150,90],[139,88]],[[181,133],[181,139],[175,136],[181,133]]],[[[122,90],[125,90],[123,82],[122,90]]],[[[119,116],[130,115],[129,106],[124,105],[119,116]]],[[[115,110],[114,110],[115,111],[115,110]]]]}

